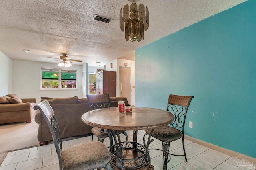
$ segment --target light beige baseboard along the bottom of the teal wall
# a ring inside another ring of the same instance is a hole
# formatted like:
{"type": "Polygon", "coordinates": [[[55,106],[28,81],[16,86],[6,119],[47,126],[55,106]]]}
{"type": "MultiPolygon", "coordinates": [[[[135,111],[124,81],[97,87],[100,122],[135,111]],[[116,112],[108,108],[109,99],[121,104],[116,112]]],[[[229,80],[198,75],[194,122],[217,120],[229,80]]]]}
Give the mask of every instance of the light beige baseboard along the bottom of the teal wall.
{"type": "Polygon", "coordinates": [[[207,148],[210,148],[210,149],[213,149],[213,150],[222,152],[222,153],[224,153],[224,154],[233,156],[234,158],[236,158],[236,157],[238,157],[238,156],[241,156],[243,159],[247,160],[248,162],[253,163],[254,165],[256,164],[256,158],[252,158],[252,157],[250,157],[250,156],[247,156],[247,155],[244,155],[244,154],[241,154],[241,153],[232,151],[232,150],[228,150],[228,149],[219,147],[219,146],[217,146],[217,145],[213,145],[213,144],[211,144],[211,143],[207,143],[207,142],[201,141],[201,140],[199,140],[199,139],[195,139],[195,138],[190,137],[190,136],[188,136],[188,135],[184,135],[184,138],[187,139],[187,140],[189,140],[189,141],[192,141],[192,142],[194,142],[194,143],[198,143],[199,145],[202,145],[202,146],[204,146],[204,147],[207,147],[207,148]]]}

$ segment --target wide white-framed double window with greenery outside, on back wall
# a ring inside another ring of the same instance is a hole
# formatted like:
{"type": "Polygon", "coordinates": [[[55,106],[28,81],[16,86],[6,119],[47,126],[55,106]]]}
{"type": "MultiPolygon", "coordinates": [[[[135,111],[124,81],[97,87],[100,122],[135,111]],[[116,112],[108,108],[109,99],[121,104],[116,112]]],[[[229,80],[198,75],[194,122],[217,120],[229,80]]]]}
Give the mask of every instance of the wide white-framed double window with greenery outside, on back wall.
{"type": "Polygon", "coordinates": [[[41,89],[77,89],[76,70],[41,69],[41,89]]]}

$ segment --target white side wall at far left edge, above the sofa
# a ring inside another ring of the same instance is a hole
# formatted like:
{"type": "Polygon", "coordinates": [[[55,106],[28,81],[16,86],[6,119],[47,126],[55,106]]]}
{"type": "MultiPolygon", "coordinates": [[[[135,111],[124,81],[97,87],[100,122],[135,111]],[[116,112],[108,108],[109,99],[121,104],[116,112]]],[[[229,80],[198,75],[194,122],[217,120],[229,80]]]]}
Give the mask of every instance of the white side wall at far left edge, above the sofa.
{"type": "Polygon", "coordinates": [[[12,93],[12,60],[0,51],[0,96],[12,93]]]}

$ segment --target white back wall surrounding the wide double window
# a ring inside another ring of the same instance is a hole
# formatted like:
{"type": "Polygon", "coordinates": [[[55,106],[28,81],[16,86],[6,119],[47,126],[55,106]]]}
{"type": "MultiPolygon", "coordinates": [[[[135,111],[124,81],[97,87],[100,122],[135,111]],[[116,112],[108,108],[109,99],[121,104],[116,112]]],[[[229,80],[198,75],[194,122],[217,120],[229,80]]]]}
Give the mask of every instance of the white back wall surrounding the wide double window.
{"type": "Polygon", "coordinates": [[[17,94],[20,98],[36,98],[37,103],[41,101],[41,97],[62,98],[78,96],[78,98],[82,98],[81,65],[72,65],[68,68],[77,70],[78,90],[40,90],[41,67],[60,68],[57,63],[13,60],[12,93],[17,94]]]}

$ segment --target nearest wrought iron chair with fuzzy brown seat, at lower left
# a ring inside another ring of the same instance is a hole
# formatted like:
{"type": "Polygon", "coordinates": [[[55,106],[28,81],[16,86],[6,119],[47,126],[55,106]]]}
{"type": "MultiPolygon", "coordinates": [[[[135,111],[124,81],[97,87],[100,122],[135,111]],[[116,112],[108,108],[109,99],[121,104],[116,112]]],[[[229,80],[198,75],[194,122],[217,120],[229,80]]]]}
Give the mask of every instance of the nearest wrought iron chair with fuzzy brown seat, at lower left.
{"type": "Polygon", "coordinates": [[[110,152],[106,145],[101,142],[90,141],[74,145],[62,151],[62,139],[60,128],[54,111],[49,102],[44,100],[34,106],[39,109],[44,120],[46,121],[58,154],[60,170],[92,170],[104,168],[105,170],[113,170],[110,164],[110,152]]]}

